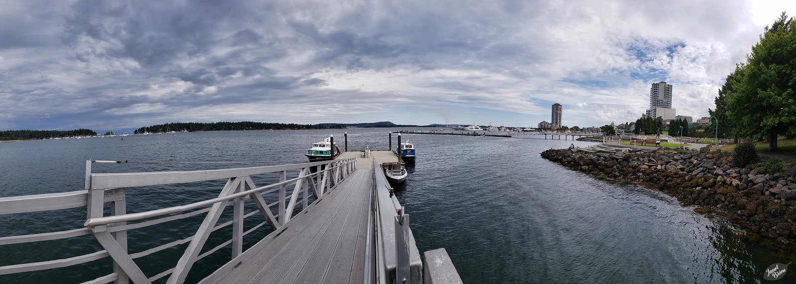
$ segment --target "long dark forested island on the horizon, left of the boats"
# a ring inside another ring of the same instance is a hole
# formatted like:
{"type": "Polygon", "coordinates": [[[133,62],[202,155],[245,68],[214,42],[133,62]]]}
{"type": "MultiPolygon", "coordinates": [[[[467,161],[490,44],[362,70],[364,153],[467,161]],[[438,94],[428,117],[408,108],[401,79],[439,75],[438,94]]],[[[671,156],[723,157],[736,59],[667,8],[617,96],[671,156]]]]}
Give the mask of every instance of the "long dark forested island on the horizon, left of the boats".
{"type": "Polygon", "coordinates": [[[163,125],[150,125],[135,129],[135,134],[142,134],[146,132],[172,132],[172,131],[220,131],[220,130],[264,130],[264,129],[344,129],[344,125],[330,125],[323,127],[320,125],[298,125],[295,123],[269,123],[269,122],[254,122],[254,121],[240,121],[240,122],[172,122],[163,125]]]}

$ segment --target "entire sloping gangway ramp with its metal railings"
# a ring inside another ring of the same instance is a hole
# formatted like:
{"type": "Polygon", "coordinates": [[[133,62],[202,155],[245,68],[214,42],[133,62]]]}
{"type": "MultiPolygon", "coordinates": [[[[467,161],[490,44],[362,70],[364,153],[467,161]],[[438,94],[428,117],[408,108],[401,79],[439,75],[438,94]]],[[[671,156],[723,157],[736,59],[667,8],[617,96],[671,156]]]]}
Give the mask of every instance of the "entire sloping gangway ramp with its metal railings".
{"type": "Polygon", "coordinates": [[[183,283],[189,275],[197,273],[206,275],[201,283],[461,282],[444,249],[426,251],[423,267],[410,228],[410,215],[392,195],[380,162],[358,154],[343,156],[356,158],[267,167],[117,174],[91,171],[92,163],[115,161],[86,161],[85,190],[0,198],[0,215],[84,207],[84,228],[0,236],[0,248],[91,235],[102,249],[85,255],[2,266],[0,276],[110,258],[113,264],[107,267],[107,274],[88,283],[183,283]],[[256,178],[252,179],[269,174],[278,177],[275,182],[256,185],[256,178]],[[211,181],[224,184],[217,196],[128,213],[126,195],[131,190],[186,183],[205,186],[211,181]],[[105,210],[106,205],[110,210],[105,210]],[[180,240],[164,240],[138,251],[128,249],[129,232],[146,232],[146,227],[181,222],[194,216],[204,219],[193,233],[180,236],[180,240]],[[254,216],[264,221],[244,226],[244,221],[254,216]],[[248,234],[262,230],[270,232],[255,244],[244,245],[248,234]],[[208,245],[209,238],[217,236],[231,238],[208,245]],[[181,255],[176,262],[158,263],[161,271],[145,273],[139,266],[146,255],[182,248],[184,244],[187,247],[179,250],[181,255]],[[198,261],[209,255],[224,254],[228,255],[228,262],[213,268],[209,275],[206,270],[195,268],[198,261]]]}

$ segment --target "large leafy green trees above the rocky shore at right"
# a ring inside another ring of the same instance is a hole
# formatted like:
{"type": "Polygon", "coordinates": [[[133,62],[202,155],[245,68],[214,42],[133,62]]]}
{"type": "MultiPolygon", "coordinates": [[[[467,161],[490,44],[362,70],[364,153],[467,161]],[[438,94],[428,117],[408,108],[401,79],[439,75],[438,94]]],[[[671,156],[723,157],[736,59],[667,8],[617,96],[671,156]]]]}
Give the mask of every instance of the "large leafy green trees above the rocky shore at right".
{"type": "Polygon", "coordinates": [[[708,111],[720,136],[767,138],[775,151],[779,136],[796,136],[796,21],[783,12],[759,38],[708,111]]]}

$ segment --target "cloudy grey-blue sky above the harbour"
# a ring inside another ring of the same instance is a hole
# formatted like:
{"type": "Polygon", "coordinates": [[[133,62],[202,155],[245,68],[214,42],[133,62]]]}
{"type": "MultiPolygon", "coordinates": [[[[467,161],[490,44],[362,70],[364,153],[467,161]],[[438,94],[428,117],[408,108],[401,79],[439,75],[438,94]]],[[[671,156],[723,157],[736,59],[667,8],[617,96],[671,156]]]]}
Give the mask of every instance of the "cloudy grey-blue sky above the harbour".
{"type": "Polygon", "coordinates": [[[0,130],[701,117],[768,1],[0,0],[0,130]]]}

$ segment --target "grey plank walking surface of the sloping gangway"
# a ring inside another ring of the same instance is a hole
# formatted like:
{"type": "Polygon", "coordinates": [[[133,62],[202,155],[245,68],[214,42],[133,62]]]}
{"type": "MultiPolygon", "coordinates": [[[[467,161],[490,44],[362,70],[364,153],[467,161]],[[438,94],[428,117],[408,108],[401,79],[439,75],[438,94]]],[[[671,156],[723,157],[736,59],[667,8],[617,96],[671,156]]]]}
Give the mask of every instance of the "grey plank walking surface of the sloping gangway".
{"type": "Polygon", "coordinates": [[[220,282],[361,283],[372,175],[358,168],[220,282]]]}

